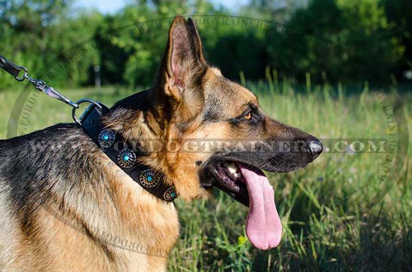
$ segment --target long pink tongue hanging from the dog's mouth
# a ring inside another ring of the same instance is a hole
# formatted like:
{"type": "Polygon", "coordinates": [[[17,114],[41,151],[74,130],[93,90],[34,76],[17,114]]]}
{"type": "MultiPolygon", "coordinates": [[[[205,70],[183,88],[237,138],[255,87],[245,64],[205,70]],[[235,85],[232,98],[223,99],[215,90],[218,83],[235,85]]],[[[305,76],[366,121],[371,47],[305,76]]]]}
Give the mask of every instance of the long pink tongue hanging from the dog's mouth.
{"type": "Polygon", "coordinates": [[[258,249],[269,249],[280,243],[282,223],[275,206],[275,192],[264,173],[238,164],[249,190],[249,213],[246,234],[258,249]]]}

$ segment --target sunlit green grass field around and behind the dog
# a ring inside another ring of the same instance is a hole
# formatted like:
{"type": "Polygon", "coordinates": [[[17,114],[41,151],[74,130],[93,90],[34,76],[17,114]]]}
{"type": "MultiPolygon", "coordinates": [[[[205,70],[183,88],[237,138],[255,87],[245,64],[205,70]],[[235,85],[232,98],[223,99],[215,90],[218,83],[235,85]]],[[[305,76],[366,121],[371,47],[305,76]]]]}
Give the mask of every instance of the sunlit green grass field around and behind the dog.
{"type": "MultiPolygon", "coordinates": [[[[266,113],[321,139],[388,138],[387,114],[368,88],[350,94],[344,87],[308,85],[301,93],[271,81],[249,85],[266,113]]],[[[20,91],[0,92],[0,138],[7,135],[20,91]]],[[[108,106],[132,94],[116,88],[62,92],[108,106]]],[[[401,96],[412,127],[410,98],[401,96]]],[[[71,121],[68,106],[44,95],[36,101],[29,131],[71,121]]],[[[323,153],[306,169],[269,174],[284,227],[281,245],[270,251],[251,246],[244,233],[247,208],[224,193],[216,190],[213,199],[189,204],[177,200],[181,238],[169,271],[411,271],[412,146],[401,145],[409,147],[409,158],[400,180],[389,176],[391,186],[380,201],[374,197],[385,187],[378,175],[387,153],[323,153]]]]}

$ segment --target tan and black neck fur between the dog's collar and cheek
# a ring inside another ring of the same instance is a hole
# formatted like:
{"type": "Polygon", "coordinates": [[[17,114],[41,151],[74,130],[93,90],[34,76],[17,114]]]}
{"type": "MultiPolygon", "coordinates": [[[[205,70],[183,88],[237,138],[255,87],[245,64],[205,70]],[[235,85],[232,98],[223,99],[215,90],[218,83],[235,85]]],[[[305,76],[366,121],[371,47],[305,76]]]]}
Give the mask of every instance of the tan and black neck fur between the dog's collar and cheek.
{"type": "MultiPolygon", "coordinates": [[[[165,176],[165,184],[174,186],[179,197],[190,201],[195,197],[207,197],[207,192],[198,182],[196,164],[185,158],[190,154],[168,148],[183,147],[185,122],[176,116],[167,97],[157,88],[138,92],[117,102],[104,116],[105,127],[122,132],[130,142],[139,142],[147,156],[139,160],[165,176]]],[[[190,136],[187,136],[190,137],[190,136]]]]}

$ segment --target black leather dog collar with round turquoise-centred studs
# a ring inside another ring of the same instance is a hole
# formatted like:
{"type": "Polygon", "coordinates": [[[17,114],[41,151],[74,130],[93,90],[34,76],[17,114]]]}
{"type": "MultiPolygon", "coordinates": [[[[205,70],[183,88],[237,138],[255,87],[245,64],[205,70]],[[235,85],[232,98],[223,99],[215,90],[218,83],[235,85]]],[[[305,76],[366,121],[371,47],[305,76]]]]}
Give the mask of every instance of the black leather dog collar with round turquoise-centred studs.
{"type": "Polygon", "coordinates": [[[128,174],[135,182],[150,194],[165,201],[173,201],[178,197],[173,186],[165,184],[163,174],[150,169],[149,166],[138,162],[144,153],[124,140],[122,134],[106,129],[102,124],[102,115],[108,108],[101,103],[100,110],[95,105],[89,106],[80,117],[83,129],[93,141],[106,153],[120,169],[128,174]]]}

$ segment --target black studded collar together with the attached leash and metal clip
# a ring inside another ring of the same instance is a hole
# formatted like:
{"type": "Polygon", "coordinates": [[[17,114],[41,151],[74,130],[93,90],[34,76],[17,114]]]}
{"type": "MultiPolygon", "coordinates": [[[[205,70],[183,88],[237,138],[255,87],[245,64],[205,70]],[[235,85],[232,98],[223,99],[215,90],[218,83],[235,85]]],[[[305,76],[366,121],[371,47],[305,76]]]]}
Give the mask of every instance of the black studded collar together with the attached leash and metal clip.
{"type": "Polygon", "coordinates": [[[73,107],[71,112],[73,120],[84,129],[96,145],[106,153],[108,158],[115,162],[120,169],[150,194],[165,201],[173,201],[178,197],[174,187],[165,184],[163,174],[139,163],[139,157],[145,156],[145,154],[137,149],[137,145],[126,142],[120,132],[113,132],[111,129],[104,127],[102,116],[108,112],[108,108],[102,103],[92,99],[80,99],[77,102],[73,102],[54,88],[47,86],[43,80],[28,76],[27,69],[24,66],[14,64],[2,55],[0,55],[0,67],[10,73],[10,75],[13,75],[19,82],[28,79],[37,90],[45,92],[49,97],[63,101],[73,107]],[[24,71],[24,74],[19,77],[22,71],[24,71]],[[78,119],[76,117],[76,110],[81,103],[91,103],[91,105],[78,119]]]}

